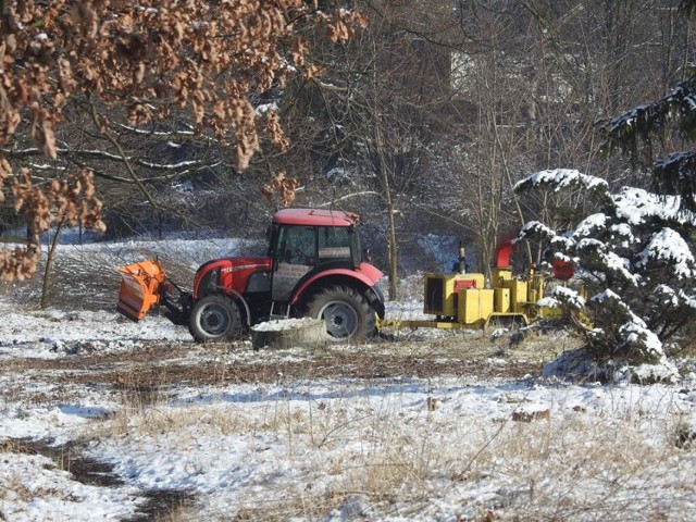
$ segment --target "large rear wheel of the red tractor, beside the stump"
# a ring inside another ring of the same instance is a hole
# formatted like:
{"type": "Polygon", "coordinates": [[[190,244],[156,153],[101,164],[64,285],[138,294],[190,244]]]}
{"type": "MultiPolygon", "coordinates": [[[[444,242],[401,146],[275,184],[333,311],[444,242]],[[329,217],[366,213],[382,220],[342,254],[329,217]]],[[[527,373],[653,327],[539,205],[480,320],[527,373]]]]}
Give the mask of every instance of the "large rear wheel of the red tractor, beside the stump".
{"type": "Polygon", "coordinates": [[[314,295],[307,314],[326,323],[332,343],[362,340],[375,330],[375,314],[368,300],[348,286],[330,286],[314,295]]]}

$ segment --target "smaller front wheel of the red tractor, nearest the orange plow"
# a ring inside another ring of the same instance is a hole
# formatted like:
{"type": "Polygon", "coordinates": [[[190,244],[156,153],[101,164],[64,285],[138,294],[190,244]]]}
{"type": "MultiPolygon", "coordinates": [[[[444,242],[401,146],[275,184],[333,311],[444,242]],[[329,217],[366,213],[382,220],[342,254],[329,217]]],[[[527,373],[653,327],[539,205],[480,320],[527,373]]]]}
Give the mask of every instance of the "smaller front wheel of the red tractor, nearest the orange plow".
{"type": "Polygon", "coordinates": [[[239,307],[226,296],[206,296],[194,304],[188,330],[198,343],[232,339],[241,330],[239,307]]]}

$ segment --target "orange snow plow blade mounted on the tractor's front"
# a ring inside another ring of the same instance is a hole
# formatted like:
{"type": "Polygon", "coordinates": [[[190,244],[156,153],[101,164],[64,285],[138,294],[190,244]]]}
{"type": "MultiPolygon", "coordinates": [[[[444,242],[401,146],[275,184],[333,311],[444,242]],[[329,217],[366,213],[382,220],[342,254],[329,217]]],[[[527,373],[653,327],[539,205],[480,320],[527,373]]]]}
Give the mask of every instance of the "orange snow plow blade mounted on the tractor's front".
{"type": "Polygon", "coordinates": [[[133,321],[140,321],[160,302],[166,275],[160,263],[152,259],[121,266],[116,271],[122,274],[116,310],[133,321]]]}

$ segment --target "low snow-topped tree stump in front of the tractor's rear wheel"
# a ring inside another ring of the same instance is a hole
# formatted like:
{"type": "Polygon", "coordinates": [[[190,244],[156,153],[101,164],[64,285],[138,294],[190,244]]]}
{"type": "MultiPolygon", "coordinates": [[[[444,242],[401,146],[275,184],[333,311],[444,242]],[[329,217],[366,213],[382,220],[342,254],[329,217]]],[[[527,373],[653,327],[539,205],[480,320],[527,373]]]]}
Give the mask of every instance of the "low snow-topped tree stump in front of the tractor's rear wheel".
{"type": "Polygon", "coordinates": [[[326,324],[319,319],[274,319],[251,327],[251,343],[257,350],[265,347],[316,348],[327,341],[326,324]]]}

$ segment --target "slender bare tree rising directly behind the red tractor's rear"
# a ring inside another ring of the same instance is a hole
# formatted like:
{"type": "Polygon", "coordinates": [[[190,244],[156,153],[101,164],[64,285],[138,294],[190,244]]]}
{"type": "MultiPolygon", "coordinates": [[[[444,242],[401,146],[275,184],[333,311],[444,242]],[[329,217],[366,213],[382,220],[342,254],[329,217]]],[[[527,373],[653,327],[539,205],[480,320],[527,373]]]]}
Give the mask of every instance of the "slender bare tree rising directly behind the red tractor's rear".
{"type": "Polygon", "coordinates": [[[321,54],[318,62],[327,74],[299,86],[290,111],[312,114],[313,125],[302,128],[311,134],[304,151],[311,151],[309,167],[325,202],[357,204],[372,223],[382,223],[395,298],[405,210],[422,194],[437,111],[448,96],[449,59],[431,39],[442,35],[434,21],[443,18],[435,13],[449,9],[420,1],[369,1],[359,8],[369,27],[321,54]]]}

